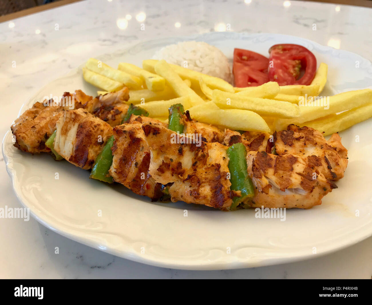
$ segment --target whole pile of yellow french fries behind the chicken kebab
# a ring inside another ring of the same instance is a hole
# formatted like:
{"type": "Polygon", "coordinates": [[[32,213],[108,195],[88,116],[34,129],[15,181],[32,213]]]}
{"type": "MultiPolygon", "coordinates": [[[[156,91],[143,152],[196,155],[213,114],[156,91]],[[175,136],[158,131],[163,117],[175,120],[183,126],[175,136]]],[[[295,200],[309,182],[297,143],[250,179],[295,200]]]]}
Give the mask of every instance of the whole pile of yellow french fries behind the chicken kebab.
{"type": "Polygon", "coordinates": [[[167,122],[168,108],[182,104],[193,119],[232,130],[273,132],[289,124],[308,126],[328,135],[372,117],[372,90],[363,89],[317,98],[327,81],[321,63],[308,86],[234,88],[218,77],[189,70],[164,60],[144,60],[142,68],[120,63],[118,69],[90,58],[84,79],[102,89],[99,95],[129,88],[128,104],[140,104],[150,117],[167,122]],[[302,101],[302,102],[301,102],[302,101]],[[329,101],[328,107],[325,101],[329,101]]]}

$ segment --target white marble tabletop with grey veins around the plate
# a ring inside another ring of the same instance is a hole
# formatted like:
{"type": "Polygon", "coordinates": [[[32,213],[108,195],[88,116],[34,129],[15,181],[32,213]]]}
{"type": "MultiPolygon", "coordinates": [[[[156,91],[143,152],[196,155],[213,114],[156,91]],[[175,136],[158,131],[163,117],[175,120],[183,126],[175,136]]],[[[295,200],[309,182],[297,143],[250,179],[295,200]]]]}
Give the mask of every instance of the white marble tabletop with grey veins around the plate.
{"type": "MultiPolygon", "coordinates": [[[[218,31],[226,23],[231,31],[302,36],[372,60],[372,9],[365,7],[279,0],[80,1],[0,23],[1,138],[23,102],[87,58],[143,40],[218,31]]],[[[2,157],[0,161],[0,207],[20,207],[2,157]]],[[[34,219],[0,219],[0,231],[1,278],[370,279],[372,275],[372,237],[297,263],[185,271],[147,266],[94,250],[34,219]],[[60,254],[54,254],[56,246],[60,254]]]]}

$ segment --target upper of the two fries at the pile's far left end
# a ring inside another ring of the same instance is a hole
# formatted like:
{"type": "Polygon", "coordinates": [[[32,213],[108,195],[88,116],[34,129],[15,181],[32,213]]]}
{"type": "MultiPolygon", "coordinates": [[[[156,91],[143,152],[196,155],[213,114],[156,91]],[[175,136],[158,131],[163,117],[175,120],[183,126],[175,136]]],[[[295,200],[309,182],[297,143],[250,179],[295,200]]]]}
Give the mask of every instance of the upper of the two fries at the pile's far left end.
{"type": "Polygon", "coordinates": [[[85,64],[85,67],[95,73],[122,83],[129,89],[141,89],[142,87],[142,80],[139,77],[116,70],[95,58],[89,58],[85,64]]]}

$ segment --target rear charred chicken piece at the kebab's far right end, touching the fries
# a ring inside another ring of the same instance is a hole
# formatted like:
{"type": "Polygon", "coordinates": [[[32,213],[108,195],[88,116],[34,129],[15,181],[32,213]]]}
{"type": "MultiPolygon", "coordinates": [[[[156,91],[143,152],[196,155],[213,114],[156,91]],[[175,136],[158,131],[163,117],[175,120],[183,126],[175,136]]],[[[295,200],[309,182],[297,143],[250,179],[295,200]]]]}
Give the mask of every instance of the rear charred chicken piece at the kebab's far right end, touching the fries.
{"type": "Polygon", "coordinates": [[[278,155],[292,154],[304,161],[310,157],[314,170],[325,178],[337,181],[344,177],[347,149],[341,144],[338,134],[333,134],[327,141],[318,130],[289,125],[287,130],[278,131],[273,136],[278,155]]]}

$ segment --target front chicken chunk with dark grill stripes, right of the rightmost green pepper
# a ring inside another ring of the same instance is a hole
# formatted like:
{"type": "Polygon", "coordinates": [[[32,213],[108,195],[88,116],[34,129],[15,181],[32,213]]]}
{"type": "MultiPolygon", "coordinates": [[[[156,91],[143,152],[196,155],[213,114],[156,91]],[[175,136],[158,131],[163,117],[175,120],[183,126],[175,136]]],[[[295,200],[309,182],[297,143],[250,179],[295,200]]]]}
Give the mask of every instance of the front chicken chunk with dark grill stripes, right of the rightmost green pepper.
{"type": "Polygon", "coordinates": [[[333,181],[316,172],[311,156],[304,159],[295,155],[248,152],[247,167],[256,194],[244,207],[310,209],[337,188],[333,181]]]}

